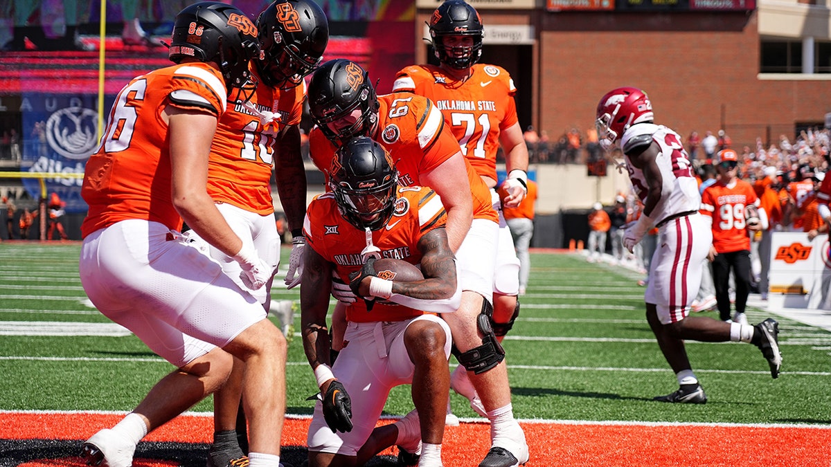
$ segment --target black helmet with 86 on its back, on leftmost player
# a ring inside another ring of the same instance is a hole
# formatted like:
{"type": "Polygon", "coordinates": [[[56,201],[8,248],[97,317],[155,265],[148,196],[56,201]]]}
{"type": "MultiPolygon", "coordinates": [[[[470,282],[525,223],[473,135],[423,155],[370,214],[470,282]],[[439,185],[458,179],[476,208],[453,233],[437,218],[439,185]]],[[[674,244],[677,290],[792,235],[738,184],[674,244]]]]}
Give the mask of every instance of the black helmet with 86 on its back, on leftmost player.
{"type": "Polygon", "coordinates": [[[248,61],[258,56],[257,27],[239,8],[223,2],[199,2],[176,15],[168,58],[175,63],[185,58],[213,61],[229,96],[234,88],[248,97],[253,95],[257,83],[248,61]]]}

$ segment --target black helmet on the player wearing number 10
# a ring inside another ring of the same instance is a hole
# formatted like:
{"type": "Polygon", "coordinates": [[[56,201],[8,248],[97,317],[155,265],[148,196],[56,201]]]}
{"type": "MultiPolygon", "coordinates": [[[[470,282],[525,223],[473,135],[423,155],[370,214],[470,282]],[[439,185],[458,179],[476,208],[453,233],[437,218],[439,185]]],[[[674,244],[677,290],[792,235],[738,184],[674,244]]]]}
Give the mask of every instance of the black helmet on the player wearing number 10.
{"type": "Polygon", "coordinates": [[[272,87],[294,87],[314,71],[329,42],[329,22],[312,0],[276,0],[257,18],[260,79],[272,87]]]}

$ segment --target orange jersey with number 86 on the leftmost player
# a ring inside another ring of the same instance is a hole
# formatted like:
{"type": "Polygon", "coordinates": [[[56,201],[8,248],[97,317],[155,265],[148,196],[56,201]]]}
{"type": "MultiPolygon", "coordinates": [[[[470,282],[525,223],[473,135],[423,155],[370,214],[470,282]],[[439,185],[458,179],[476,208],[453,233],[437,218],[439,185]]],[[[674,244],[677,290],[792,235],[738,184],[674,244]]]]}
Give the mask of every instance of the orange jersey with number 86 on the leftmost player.
{"type": "Polygon", "coordinates": [[[222,116],[227,91],[219,71],[184,63],[136,76],[116,96],[96,153],[86,162],[81,196],[90,209],[86,237],[125,219],[182,228],[170,200],[170,142],[165,106],[222,116]]]}

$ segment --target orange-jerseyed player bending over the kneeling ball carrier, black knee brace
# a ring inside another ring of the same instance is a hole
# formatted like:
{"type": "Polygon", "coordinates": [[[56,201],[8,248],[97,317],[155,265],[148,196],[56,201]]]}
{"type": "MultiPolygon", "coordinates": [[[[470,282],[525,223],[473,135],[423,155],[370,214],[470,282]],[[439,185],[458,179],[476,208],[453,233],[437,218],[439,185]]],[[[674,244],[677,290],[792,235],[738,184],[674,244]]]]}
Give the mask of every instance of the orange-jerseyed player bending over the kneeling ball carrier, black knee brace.
{"type": "MultiPolygon", "coordinates": [[[[514,419],[504,349],[491,326],[499,217],[488,186],[461,154],[459,142],[432,101],[410,92],[376,96],[368,74],[354,61],[324,63],[312,75],[308,99],[317,124],[310,140],[318,168],[331,165],[332,154],[344,141],[369,135],[396,160],[399,184],[429,186],[440,195],[462,285],[461,307],[445,320],[453,331],[454,355],[473,373],[471,381],[492,427],[492,448],[482,465],[525,462],[528,446],[514,419]]],[[[337,313],[333,327],[336,317],[337,313]]],[[[336,349],[338,335],[333,329],[336,349]]]]}

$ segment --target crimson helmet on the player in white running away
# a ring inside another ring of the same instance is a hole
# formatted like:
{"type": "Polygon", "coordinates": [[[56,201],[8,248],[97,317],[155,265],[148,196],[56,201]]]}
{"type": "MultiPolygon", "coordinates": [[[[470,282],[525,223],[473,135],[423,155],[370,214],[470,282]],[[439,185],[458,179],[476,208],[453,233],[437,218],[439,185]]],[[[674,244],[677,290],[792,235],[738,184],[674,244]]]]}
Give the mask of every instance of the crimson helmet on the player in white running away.
{"type": "Polygon", "coordinates": [[[630,126],[653,118],[652,102],[646,92],[618,87],[608,91],[597,104],[597,139],[604,150],[611,150],[630,126]]]}

